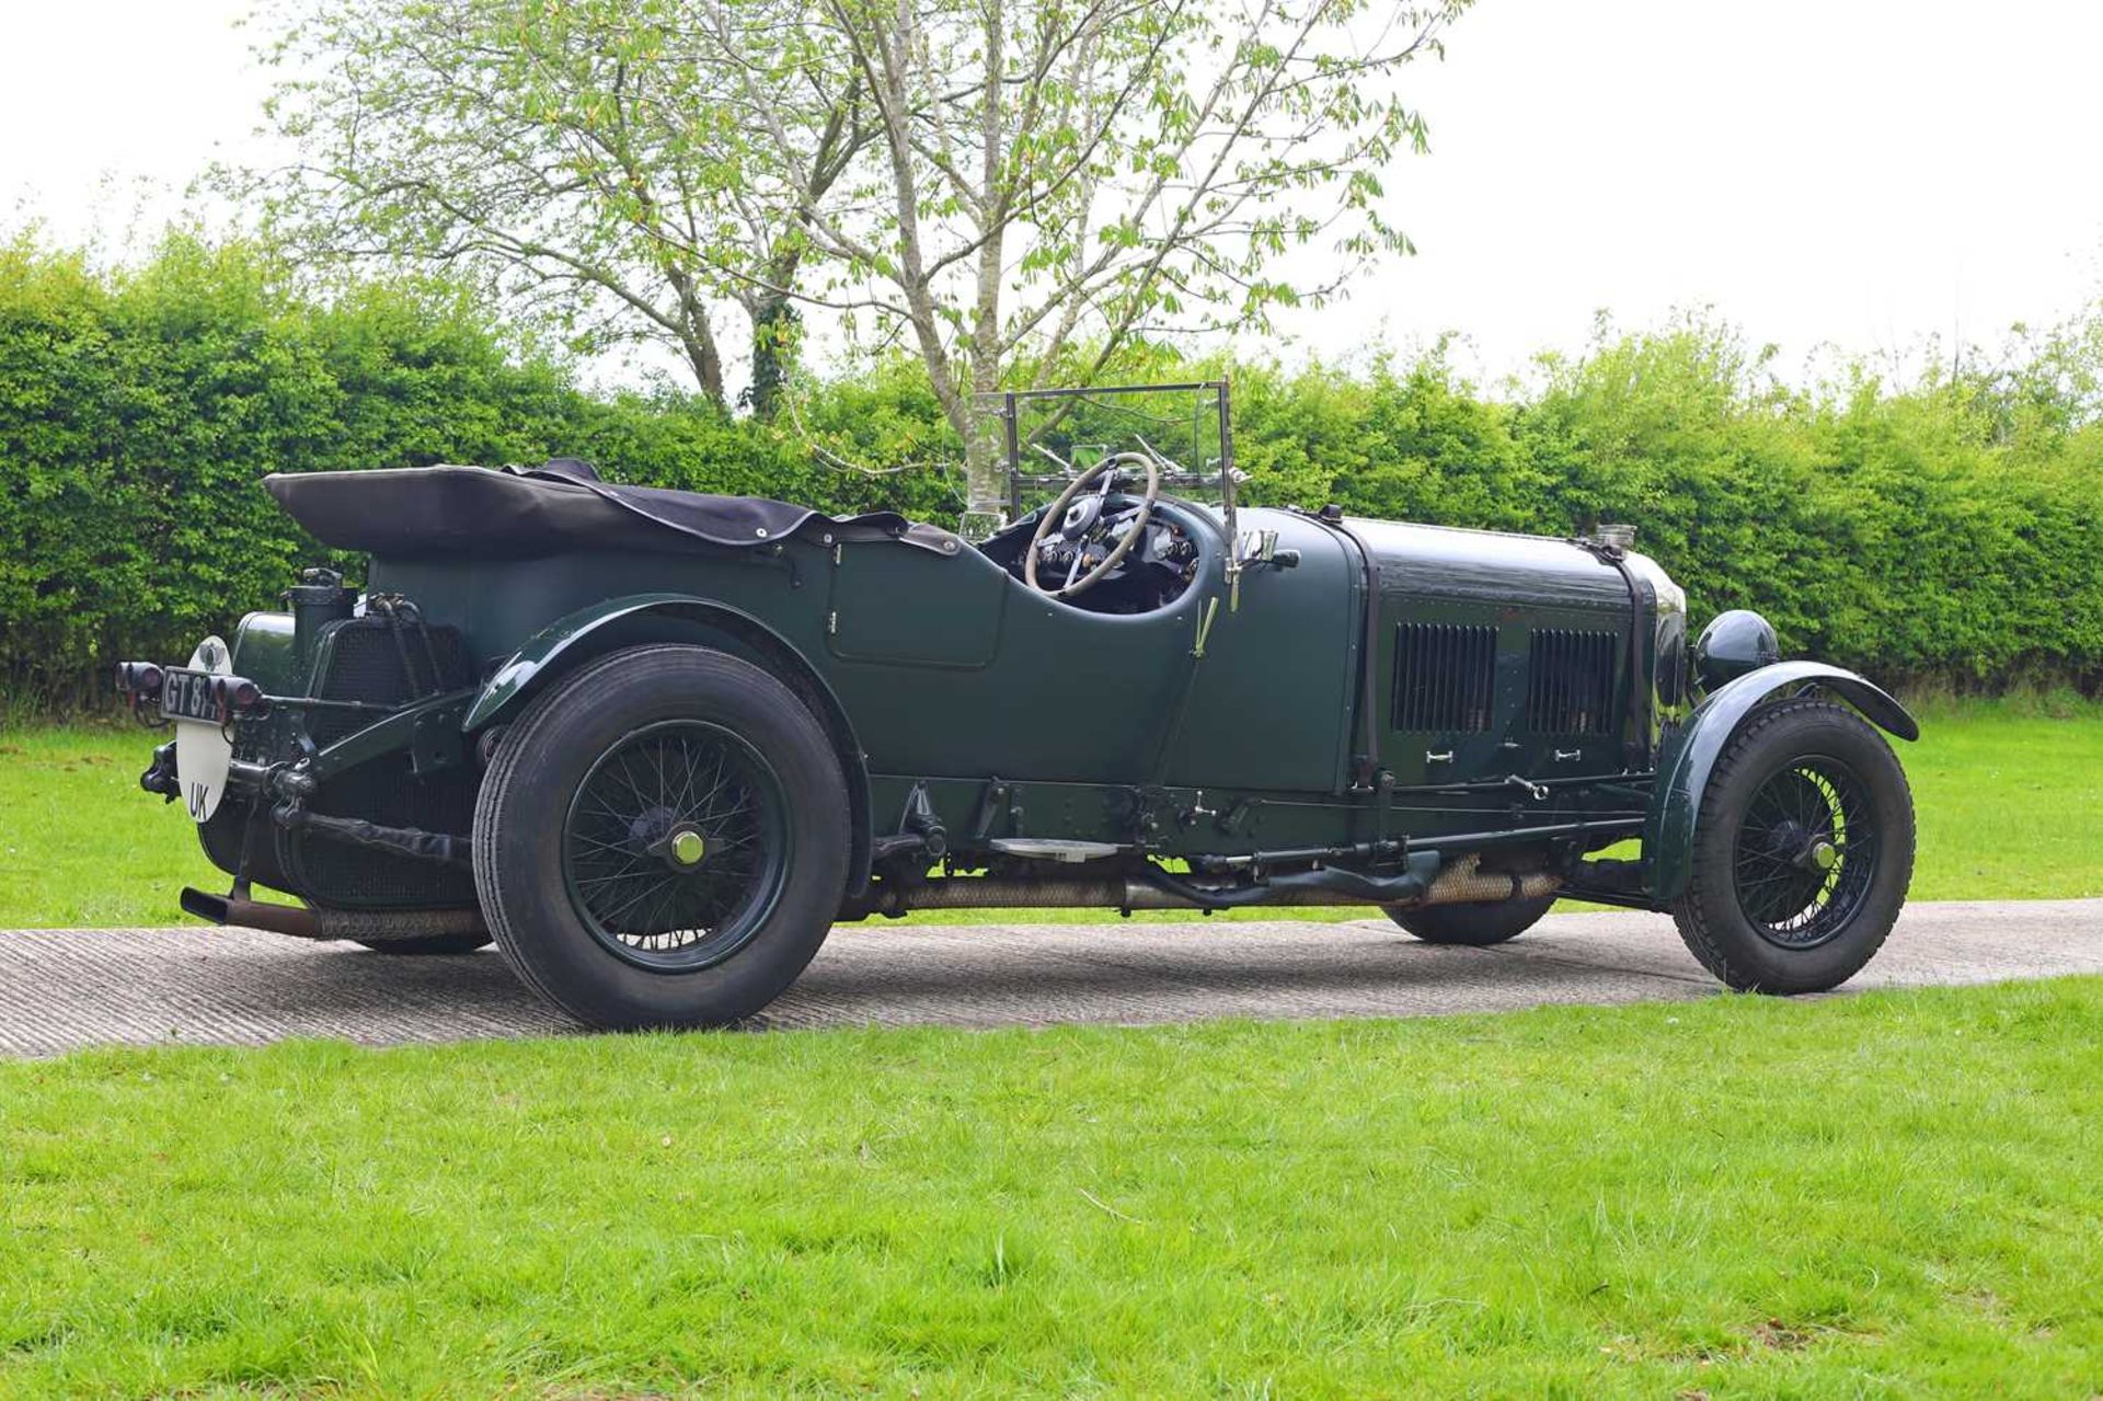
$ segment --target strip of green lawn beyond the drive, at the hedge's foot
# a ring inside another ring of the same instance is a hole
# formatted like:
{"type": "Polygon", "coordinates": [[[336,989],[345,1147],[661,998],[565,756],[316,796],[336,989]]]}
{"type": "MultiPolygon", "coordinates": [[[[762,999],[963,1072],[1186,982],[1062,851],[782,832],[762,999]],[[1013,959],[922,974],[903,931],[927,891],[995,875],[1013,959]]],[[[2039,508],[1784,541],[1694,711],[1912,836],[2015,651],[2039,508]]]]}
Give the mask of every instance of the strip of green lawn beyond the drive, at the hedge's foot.
{"type": "MultiPolygon", "coordinates": [[[[1920,812],[1914,898],[2103,896],[2103,709],[2076,707],[2076,717],[2053,719],[2036,707],[1962,705],[1931,709],[1922,724],[1918,745],[1899,745],[1920,812]]],[[[181,810],[139,791],[154,743],[137,726],[0,732],[0,812],[8,814],[0,928],[177,923],[181,886],[225,886],[181,810]]],[[[913,915],[986,917],[1104,913],[913,915]]]]}

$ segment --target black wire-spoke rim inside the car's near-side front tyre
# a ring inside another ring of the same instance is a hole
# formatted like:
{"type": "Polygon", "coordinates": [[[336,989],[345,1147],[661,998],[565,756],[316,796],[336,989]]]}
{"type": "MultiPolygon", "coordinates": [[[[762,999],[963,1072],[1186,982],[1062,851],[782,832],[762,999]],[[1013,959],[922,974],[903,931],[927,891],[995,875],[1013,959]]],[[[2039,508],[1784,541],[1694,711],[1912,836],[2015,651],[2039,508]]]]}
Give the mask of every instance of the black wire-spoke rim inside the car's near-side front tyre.
{"type": "Polygon", "coordinates": [[[1745,804],[1731,852],[1739,909],[1760,938],[1815,949],[1836,938],[1876,879],[1867,785],[1840,759],[1800,755],[1745,804]]]}

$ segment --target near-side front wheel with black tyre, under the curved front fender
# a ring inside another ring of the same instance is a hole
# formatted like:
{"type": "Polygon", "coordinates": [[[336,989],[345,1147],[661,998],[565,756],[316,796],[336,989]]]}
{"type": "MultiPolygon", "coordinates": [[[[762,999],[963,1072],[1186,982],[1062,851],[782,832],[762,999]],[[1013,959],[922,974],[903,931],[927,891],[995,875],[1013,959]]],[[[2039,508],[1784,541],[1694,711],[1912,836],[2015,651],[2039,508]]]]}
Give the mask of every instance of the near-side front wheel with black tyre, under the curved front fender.
{"type": "Polygon", "coordinates": [[[1914,879],[1914,795],[1891,745],[1832,700],[1754,711],[1710,774],[1680,938],[1724,984],[1821,993],[1878,951],[1914,879]]]}

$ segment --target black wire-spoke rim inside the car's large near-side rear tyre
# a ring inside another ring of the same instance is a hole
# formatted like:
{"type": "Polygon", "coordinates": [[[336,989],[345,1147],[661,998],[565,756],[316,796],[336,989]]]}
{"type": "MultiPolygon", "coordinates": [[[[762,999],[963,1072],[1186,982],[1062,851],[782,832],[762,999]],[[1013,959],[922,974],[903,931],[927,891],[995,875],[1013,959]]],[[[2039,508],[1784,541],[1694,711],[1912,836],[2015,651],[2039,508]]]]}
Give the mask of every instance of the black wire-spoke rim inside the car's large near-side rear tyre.
{"type": "Polygon", "coordinates": [[[707,722],[620,736],[585,774],[562,831],[570,905],[641,968],[709,968],[744,947],[780,898],[787,797],[765,757],[707,722]]]}

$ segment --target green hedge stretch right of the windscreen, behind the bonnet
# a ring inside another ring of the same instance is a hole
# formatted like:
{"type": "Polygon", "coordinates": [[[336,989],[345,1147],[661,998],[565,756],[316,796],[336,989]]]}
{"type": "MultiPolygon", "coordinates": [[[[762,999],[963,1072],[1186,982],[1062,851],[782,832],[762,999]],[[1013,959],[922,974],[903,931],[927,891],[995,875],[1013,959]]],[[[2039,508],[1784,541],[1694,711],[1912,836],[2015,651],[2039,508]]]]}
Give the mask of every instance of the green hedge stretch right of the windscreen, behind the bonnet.
{"type": "Polygon", "coordinates": [[[1546,534],[1634,522],[1697,623],[1758,608],[1788,652],[1899,684],[2095,690],[2103,427],[2010,429],[1975,389],[1844,370],[1788,391],[1695,324],[1552,362],[1514,402],[1438,356],[1241,374],[1234,442],[1272,499],[1546,534]]]}

